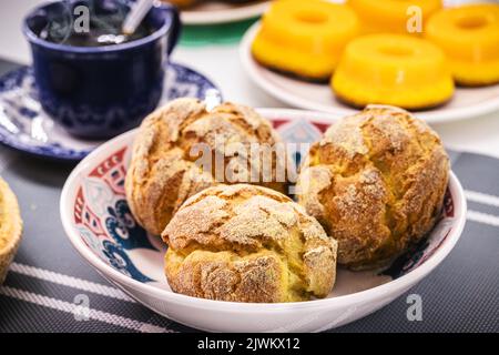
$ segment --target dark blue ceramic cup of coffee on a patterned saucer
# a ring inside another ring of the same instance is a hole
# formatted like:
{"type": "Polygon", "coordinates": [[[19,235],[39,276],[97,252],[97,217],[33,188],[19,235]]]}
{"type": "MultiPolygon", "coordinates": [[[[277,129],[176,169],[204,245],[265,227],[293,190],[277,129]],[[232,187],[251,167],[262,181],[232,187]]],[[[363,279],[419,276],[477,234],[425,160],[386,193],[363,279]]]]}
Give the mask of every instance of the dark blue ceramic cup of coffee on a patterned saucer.
{"type": "Polygon", "coordinates": [[[24,19],[41,105],[73,135],[110,138],[136,126],[156,108],[165,65],[180,34],[179,13],[167,4],[153,7],[144,19],[150,34],[121,44],[68,45],[63,40],[57,43],[41,39],[41,31],[51,23],[59,30],[72,27],[77,6],[92,6],[93,10],[104,7],[96,11],[124,7],[128,11],[126,3],[130,2],[52,2],[34,9],[24,19]]]}

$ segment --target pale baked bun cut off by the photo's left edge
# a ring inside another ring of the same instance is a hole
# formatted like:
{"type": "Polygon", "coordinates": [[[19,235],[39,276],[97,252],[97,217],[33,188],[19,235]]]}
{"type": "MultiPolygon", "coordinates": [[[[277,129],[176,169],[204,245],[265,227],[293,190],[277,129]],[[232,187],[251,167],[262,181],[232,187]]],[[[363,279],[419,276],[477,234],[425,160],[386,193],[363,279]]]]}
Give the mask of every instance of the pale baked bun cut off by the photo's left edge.
{"type": "Polygon", "coordinates": [[[22,221],[18,200],[9,185],[0,178],[0,284],[7,276],[21,242],[22,221]]]}

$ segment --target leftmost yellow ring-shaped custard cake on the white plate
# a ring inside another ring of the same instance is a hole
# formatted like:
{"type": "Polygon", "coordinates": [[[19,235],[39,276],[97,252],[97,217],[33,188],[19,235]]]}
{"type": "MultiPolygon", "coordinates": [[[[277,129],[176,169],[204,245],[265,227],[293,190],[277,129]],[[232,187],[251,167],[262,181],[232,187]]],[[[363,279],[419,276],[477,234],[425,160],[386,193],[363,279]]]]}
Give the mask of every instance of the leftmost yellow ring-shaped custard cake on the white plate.
{"type": "Polygon", "coordinates": [[[265,13],[252,45],[261,64],[314,81],[327,81],[359,31],[355,12],[319,0],[281,0],[265,13]]]}

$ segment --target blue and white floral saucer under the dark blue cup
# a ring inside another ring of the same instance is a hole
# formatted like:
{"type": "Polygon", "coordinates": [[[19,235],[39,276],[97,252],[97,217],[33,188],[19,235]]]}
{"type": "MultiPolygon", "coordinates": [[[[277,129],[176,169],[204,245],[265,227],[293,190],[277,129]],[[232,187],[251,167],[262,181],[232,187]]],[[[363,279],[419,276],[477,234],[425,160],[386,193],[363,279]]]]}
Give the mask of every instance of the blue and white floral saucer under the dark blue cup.
{"type": "MultiPolygon", "coordinates": [[[[210,89],[218,90],[203,74],[170,63],[160,104],[181,97],[204,99],[210,89]]],[[[30,67],[0,78],[0,142],[29,154],[63,161],[79,161],[102,143],[71,136],[43,112],[30,67]]]]}

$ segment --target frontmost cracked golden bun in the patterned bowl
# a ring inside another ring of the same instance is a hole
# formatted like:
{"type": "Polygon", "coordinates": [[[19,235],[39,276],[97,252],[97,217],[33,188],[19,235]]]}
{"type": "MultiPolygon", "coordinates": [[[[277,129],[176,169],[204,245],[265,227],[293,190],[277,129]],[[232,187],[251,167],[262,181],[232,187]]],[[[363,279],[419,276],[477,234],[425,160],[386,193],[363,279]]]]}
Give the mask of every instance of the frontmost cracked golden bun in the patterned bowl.
{"type": "Polygon", "coordinates": [[[294,302],[329,294],[337,243],[286,195],[218,185],[190,197],[162,234],[176,293],[232,302],[294,302]]]}

